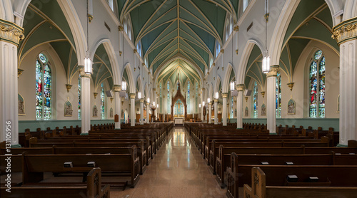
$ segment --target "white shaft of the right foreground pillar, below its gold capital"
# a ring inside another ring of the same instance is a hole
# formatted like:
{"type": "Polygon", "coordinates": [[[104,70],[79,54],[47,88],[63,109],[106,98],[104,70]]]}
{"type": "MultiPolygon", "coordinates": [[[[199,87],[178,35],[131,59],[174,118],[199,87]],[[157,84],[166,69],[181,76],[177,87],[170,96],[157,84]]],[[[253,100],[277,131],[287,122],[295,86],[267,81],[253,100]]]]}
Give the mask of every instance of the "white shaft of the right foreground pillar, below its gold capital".
{"type": "Polygon", "coordinates": [[[340,45],[340,141],[357,140],[357,39],[340,45]]]}

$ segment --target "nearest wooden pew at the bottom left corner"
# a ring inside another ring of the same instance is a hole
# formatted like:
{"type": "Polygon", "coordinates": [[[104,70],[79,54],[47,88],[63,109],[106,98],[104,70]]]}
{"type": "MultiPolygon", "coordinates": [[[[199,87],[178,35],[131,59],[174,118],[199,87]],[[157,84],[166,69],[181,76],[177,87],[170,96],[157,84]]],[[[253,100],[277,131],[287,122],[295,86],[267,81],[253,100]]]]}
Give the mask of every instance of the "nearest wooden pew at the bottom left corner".
{"type": "Polygon", "coordinates": [[[110,187],[106,184],[102,188],[101,169],[93,168],[86,175],[86,184],[76,186],[39,186],[36,187],[11,187],[11,192],[6,192],[6,188],[1,185],[1,197],[9,198],[110,198],[110,187]],[[50,195],[51,194],[51,195],[50,195]]]}

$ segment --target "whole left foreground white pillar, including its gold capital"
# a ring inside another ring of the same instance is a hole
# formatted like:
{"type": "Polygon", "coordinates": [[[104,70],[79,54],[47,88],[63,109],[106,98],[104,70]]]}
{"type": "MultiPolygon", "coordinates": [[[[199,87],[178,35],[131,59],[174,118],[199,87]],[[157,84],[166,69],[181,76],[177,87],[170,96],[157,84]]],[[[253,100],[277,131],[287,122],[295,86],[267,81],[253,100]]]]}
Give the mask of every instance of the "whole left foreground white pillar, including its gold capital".
{"type": "Polygon", "coordinates": [[[18,115],[18,70],[17,49],[24,39],[24,28],[10,21],[0,20],[0,142],[5,141],[6,147],[21,147],[19,145],[19,115],[18,115]]]}

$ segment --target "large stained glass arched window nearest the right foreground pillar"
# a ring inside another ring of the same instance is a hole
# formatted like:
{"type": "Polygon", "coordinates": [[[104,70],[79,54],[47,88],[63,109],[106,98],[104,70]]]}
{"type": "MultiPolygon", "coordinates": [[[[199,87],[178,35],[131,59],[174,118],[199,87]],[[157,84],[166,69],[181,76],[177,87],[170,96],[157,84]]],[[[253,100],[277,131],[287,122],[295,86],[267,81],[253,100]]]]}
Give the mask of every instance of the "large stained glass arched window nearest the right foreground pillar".
{"type": "Polygon", "coordinates": [[[310,64],[310,108],[311,118],[325,118],[325,56],[321,50],[313,55],[310,64]]]}

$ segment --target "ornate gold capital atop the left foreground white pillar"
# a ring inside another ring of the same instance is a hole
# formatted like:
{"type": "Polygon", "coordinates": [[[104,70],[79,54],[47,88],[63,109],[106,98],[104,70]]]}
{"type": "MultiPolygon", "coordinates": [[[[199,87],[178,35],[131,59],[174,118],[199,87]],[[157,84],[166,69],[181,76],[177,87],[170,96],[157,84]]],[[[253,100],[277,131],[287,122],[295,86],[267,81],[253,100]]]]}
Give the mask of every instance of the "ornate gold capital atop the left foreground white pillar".
{"type": "Polygon", "coordinates": [[[10,21],[0,19],[0,41],[6,41],[19,46],[20,41],[24,40],[24,28],[10,21]]]}

